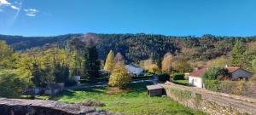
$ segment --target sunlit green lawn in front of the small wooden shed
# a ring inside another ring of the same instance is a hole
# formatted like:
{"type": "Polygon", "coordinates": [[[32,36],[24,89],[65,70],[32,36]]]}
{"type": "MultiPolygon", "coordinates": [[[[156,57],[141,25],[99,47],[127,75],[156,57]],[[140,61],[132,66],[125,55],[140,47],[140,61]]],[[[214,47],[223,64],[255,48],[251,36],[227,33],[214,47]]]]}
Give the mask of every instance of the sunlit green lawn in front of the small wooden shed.
{"type": "Polygon", "coordinates": [[[78,103],[79,101],[86,100],[102,101],[106,106],[98,108],[129,114],[205,114],[181,106],[168,97],[148,97],[146,85],[147,83],[133,83],[130,84],[131,89],[129,91],[119,93],[110,92],[108,87],[69,90],[64,91],[61,95],[55,97],[54,100],[67,103],[78,103]]]}

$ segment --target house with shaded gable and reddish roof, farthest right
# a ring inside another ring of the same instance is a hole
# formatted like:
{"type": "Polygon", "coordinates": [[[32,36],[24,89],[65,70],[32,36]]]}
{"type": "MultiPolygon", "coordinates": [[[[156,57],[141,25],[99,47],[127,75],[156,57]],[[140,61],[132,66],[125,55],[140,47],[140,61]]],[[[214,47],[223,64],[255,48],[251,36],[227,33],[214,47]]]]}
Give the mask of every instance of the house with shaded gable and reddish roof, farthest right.
{"type": "Polygon", "coordinates": [[[231,80],[240,80],[242,78],[248,79],[252,76],[252,72],[247,72],[240,67],[227,67],[226,69],[230,73],[231,80]]]}

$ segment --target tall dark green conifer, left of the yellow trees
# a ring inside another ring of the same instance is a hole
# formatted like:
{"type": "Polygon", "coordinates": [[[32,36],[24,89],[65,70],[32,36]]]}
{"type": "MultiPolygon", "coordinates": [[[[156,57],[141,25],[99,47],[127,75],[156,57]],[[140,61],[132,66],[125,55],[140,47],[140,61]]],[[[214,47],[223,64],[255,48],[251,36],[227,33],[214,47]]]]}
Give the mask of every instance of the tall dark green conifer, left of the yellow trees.
{"type": "Polygon", "coordinates": [[[98,78],[101,68],[101,61],[97,53],[96,45],[89,39],[86,45],[86,53],[84,54],[84,76],[86,78],[98,78]]]}

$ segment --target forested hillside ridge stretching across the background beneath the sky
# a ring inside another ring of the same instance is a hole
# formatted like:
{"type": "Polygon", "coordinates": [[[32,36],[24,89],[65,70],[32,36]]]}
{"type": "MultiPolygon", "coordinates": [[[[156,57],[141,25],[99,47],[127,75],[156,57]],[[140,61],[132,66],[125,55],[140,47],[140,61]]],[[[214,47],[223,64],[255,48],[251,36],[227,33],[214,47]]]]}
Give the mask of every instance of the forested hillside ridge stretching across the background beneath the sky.
{"type": "MultiPolygon", "coordinates": [[[[21,37],[0,35],[15,50],[42,47],[49,44],[65,46],[66,42],[75,37],[85,36],[96,41],[96,47],[101,59],[105,59],[108,51],[120,52],[125,60],[146,60],[149,57],[158,58],[171,52],[173,55],[182,53],[189,60],[211,60],[221,55],[227,55],[236,39],[242,43],[256,41],[256,37],[218,37],[204,35],[202,37],[174,37],[152,34],[67,34],[55,37],[21,37]]],[[[84,38],[84,37],[83,37],[84,38]]]]}

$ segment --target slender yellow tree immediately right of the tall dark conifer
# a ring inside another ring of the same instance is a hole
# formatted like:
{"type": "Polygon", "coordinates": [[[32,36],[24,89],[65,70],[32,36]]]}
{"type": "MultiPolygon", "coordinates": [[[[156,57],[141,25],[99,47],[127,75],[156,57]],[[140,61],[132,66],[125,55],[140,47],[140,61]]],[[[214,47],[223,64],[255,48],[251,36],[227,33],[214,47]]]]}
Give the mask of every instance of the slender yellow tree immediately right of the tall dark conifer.
{"type": "Polygon", "coordinates": [[[113,54],[113,51],[110,50],[108,53],[106,62],[105,62],[104,70],[106,70],[108,72],[112,72],[114,65],[115,65],[114,54],[113,54]]]}

